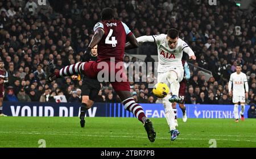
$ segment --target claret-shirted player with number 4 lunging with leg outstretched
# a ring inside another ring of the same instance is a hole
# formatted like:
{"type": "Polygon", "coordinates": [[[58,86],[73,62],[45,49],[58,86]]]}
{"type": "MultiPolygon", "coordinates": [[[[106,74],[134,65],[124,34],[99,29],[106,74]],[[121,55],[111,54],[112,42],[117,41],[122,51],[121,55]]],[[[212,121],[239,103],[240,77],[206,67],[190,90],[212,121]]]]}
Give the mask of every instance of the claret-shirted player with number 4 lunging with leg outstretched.
{"type": "Polygon", "coordinates": [[[86,54],[87,52],[90,52],[95,45],[98,45],[97,61],[77,62],[76,64],[65,66],[60,69],[59,72],[55,72],[53,61],[50,60],[47,64],[47,82],[52,82],[56,80],[56,78],[72,76],[80,73],[84,74],[88,78],[97,78],[98,73],[103,69],[102,65],[107,65],[109,68],[108,73],[110,75],[110,83],[112,84],[113,89],[117,92],[119,98],[122,100],[123,106],[126,110],[133,112],[136,118],[143,123],[148,139],[151,142],[154,142],[156,133],[152,122],[150,119],[146,118],[142,107],[138,103],[135,103],[130,92],[129,82],[123,72],[123,64],[116,66],[117,63],[120,64],[123,62],[126,39],[134,47],[138,47],[138,41],[125,23],[120,20],[115,20],[113,9],[103,9],[101,12],[101,20],[102,22],[96,23],[94,26],[92,41],[90,41],[89,47],[85,51],[86,54]],[[111,60],[111,57],[114,57],[114,61],[111,60]],[[115,81],[112,81],[111,76],[113,73],[110,73],[110,70],[113,70],[114,77],[117,73],[120,74],[121,72],[122,79],[126,80],[119,81],[115,78],[115,81]]]}

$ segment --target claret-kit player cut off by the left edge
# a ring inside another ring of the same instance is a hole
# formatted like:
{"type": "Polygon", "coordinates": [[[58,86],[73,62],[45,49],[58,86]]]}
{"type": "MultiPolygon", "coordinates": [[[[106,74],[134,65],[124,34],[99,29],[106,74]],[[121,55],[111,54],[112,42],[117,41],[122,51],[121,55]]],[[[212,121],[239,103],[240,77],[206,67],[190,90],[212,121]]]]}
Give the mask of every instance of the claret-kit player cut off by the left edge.
{"type": "Polygon", "coordinates": [[[8,82],[8,73],[5,68],[3,68],[5,64],[3,61],[0,61],[0,116],[7,116],[3,114],[3,95],[5,95],[5,89],[3,84],[8,82]]]}

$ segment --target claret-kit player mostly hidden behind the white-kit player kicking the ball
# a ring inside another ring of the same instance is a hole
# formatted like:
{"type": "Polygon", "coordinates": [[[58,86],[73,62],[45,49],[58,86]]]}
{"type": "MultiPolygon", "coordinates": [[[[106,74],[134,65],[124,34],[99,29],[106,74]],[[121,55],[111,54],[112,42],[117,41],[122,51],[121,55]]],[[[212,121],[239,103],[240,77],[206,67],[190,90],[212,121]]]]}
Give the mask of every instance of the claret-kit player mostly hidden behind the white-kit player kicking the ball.
{"type": "MultiPolygon", "coordinates": [[[[182,65],[184,67],[184,78],[183,80],[180,82],[180,90],[179,90],[179,97],[180,97],[180,103],[179,103],[179,107],[182,111],[182,114],[183,114],[183,122],[187,122],[187,113],[186,113],[186,107],[185,107],[185,104],[184,104],[184,101],[185,101],[185,91],[186,91],[186,88],[187,88],[187,80],[190,79],[190,71],[189,71],[189,66],[188,66],[188,63],[185,61],[185,60],[182,60],[182,65]]],[[[175,115],[175,127],[178,126],[178,123],[177,123],[177,107],[176,107],[177,103],[172,103],[172,108],[174,109],[174,115],[175,115]]]]}

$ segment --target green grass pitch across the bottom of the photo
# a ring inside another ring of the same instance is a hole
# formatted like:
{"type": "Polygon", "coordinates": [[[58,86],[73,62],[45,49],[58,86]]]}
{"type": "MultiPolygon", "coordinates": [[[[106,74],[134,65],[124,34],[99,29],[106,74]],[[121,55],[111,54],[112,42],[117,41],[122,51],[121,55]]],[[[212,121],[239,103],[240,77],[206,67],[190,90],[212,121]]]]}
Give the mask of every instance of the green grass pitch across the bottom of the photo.
{"type": "Polygon", "coordinates": [[[256,120],[245,119],[178,119],[180,135],[170,140],[166,119],[151,119],[156,140],[150,143],[143,125],[135,118],[86,118],[81,128],[79,118],[63,117],[1,117],[0,147],[39,147],[44,139],[46,147],[130,147],[174,148],[256,147],[256,120]]]}

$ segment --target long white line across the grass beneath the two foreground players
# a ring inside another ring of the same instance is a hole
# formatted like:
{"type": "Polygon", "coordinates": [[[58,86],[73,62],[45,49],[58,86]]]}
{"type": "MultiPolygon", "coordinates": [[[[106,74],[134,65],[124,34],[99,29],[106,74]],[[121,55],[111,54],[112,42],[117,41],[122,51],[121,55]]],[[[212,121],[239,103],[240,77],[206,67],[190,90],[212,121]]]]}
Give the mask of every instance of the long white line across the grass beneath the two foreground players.
{"type": "MultiPolygon", "coordinates": [[[[142,136],[113,136],[113,135],[85,135],[85,134],[67,134],[67,133],[46,133],[46,132],[4,132],[0,131],[1,133],[20,133],[20,134],[31,134],[31,135],[66,135],[66,136],[92,136],[92,137],[120,137],[120,138],[147,138],[142,136]]],[[[111,133],[109,133],[111,134],[111,133]]],[[[156,137],[156,139],[170,139],[169,137],[156,137]]],[[[177,138],[177,140],[209,140],[209,139],[196,139],[196,138],[177,138]]],[[[220,141],[246,141],[246,142],[256,142],[254,140],[230,140],[230,139],[215,139],[220,141]]]]}

